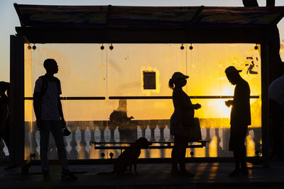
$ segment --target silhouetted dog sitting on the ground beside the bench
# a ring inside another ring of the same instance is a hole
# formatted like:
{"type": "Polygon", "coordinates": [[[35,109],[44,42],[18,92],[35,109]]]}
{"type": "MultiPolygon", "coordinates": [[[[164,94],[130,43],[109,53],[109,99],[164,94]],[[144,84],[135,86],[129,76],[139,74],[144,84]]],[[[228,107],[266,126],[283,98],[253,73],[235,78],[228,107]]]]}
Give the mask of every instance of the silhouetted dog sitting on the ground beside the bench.
{"type": "Polygon", "coordinates": [[[124,152],[119,155],[116,163],[114,164],[113,173],[116,175],[122,175],[125,171],[127,171],[127,167],[129,166],[129,171],[132,171],[132,165],[134,166],[134,171],[137,174],[136,170],[136,161],[141,154],[141,148],[148,147],[152,143],[148,142],[148,140],[144,137],[137,139],[130,147],[126,148],[124,152]]]}

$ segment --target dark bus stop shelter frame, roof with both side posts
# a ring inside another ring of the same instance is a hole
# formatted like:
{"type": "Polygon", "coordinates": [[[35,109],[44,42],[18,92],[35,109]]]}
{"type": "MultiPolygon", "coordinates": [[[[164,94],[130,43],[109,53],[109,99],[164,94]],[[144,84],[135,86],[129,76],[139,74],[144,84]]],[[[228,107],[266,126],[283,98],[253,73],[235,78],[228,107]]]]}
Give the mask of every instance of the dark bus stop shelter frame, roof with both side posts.
{"type": "Polygon", "coordinates": [[[21,26],[10,37],[13,163],[24,161],[25,43],[255,43],[261,45],[262,160],[268,166],[271,28],[284,7],[14,6],[21,26]]]}

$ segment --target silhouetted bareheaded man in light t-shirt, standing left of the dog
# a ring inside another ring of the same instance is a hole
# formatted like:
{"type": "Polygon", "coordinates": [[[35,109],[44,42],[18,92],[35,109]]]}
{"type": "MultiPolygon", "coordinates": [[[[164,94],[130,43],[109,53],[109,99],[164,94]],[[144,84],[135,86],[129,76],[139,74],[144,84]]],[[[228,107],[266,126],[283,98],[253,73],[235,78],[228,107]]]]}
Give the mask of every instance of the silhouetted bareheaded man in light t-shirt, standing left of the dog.
{"type": "Polygon", "coordinates": [[[62,164],[62,180],[74,181],[77,177],[69,171],[62,127],[66,123],[62,113],[60,101],[60,80],[53,76],[58,73],[58,64],[55,59],[45,59],[43,63],[46,74],[35,81],[33,93],[33,108],[37,126],[40,130],[40,160],[45,181],[50,180],[48,164],[48,142],[50,132],[53,134],[58,149],[58,158],[62,164]]]}

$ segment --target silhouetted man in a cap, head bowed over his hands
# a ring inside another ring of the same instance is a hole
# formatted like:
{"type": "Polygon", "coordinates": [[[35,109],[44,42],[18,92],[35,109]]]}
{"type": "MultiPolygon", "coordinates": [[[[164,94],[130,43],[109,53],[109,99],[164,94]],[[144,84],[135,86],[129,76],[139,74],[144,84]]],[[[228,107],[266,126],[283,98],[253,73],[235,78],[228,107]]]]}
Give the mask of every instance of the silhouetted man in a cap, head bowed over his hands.
{"type": "Polygon", "coordinates": [[[234,90],[234,100],[226,101],[226,106],[231,106],[231,136],[229,150],[234,152],[235,170],[229,177],[247,175],[246,167],[246,147],[244,145],[248,125],[251,125],[250,89],[249,84],[239,75],[241,70],[235,67],[227,67],[226,77],[232,85],[236,85],[234,90]],[[239,164],[241,163],[241,169],[239,164]]]}

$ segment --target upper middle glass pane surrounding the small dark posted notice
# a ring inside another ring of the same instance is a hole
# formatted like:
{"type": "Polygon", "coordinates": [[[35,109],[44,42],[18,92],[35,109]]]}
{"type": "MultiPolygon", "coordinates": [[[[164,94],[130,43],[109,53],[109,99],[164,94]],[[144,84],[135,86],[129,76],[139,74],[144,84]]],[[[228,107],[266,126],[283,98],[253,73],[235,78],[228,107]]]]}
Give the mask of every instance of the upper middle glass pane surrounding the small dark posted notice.
{"type": "Polygon", "coordinates": [[[171,96],[168,80],[186,71],[180,44],[115,44],[107,57],[109,96],[171,96]],[[155,71],[156,89],[143,89],[143,71],[155,71]]]}

